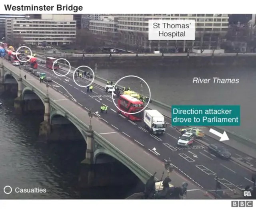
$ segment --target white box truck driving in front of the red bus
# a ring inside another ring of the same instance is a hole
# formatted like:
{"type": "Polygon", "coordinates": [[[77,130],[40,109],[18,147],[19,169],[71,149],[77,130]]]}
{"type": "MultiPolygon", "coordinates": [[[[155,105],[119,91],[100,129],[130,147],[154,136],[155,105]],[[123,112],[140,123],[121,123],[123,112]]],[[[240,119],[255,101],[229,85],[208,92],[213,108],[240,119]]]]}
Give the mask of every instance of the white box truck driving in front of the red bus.
{"type": "Polygon", "coordinates": [[[164,134],[166,124],[164,116],[158,110],[144,111],[144,125],[152,134],[164,134]]]}

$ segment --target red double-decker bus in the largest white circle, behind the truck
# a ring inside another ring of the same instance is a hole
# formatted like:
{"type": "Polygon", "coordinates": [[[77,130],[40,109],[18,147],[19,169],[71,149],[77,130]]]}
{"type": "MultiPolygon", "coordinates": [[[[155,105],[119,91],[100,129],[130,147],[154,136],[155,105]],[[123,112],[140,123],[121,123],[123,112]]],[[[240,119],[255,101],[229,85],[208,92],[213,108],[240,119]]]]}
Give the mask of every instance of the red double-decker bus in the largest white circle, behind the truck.
{"type": "MultiPolygon", "coordinates": [[[[121,95],[118,99],[118,108],[124,112],[135,113],[144,108],[144,103],[130,95],[121,95]]],[[[143,111],[136,114],[127,114],[120,110],[119,112],[121,112],[122,115],[132,121],[142,120],[143,118],[143,111]]]]}

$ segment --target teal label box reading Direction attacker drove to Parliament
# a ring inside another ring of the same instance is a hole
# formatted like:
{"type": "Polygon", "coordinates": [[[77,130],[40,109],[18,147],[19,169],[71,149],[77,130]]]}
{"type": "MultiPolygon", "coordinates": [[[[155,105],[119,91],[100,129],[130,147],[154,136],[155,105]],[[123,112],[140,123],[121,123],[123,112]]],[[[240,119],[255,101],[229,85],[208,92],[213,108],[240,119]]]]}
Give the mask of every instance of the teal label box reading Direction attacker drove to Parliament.
{"type": "Polygon", "coordinates": [[[240,106],[172,105],[172,126],[240,126],[240,106]]]}

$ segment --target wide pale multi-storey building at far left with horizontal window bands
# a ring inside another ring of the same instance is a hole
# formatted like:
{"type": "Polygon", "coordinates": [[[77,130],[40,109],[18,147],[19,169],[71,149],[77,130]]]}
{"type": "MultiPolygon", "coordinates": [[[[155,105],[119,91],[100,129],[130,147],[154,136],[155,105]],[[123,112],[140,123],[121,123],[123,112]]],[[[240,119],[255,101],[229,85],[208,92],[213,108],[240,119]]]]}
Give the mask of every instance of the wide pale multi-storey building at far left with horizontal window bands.
{"type": "Polygon", "coordinates": [[[22,37],[25,43],[41,45],[43,42],[51,45],[71,43],[76,39],[76,21],[73,15],[42,15],[41,20],[6,19],[6,37],[22,37]]]}

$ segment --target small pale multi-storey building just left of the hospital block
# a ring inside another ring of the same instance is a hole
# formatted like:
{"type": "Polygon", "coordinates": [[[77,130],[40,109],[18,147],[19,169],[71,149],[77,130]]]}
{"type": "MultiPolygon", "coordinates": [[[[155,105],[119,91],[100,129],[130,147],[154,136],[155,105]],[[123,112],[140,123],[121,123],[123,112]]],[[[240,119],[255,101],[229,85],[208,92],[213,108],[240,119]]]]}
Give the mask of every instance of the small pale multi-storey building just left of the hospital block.
{"type": "Polygon", "coordinates": [[[117,30],[118,17],[116,16],[100,16],[99,20],[90,20],[90,31],[98,34],[104,41],[110,43],[118,41],[117,30]]]}

